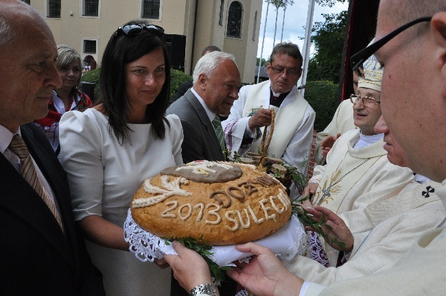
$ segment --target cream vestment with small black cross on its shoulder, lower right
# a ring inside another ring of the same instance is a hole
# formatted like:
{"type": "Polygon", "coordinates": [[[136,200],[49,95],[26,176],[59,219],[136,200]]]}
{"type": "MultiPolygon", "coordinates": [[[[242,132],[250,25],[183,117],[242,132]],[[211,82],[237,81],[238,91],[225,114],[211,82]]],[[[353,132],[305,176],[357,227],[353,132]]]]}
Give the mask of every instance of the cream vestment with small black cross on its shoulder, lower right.
{"type": "Polygon", "coordinates": [[[389,269],[415,242],[443,221],[446,211],[433,193],[441,184],[409,184],[399,195],[386,195],[364,209],[373,230],[353,233],[350,258],[340,267],[324,267],[304,256],[283,262],[303,280],[331,284],[389,269]],[[416,185],[414,185],[416,184],[416,185]]]}

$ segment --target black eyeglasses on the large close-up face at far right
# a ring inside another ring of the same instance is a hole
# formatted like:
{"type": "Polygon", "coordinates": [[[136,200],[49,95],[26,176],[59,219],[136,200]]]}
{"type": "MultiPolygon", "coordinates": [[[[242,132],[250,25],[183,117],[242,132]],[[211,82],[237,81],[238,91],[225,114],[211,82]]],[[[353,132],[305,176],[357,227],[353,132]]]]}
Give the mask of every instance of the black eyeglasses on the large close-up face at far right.
{"type": "Polygon", "coordinates": [[[359,75],[359,77],[364,78],[364,73],[361,73],[360,67],[362,66],[362,64],[364,63],[365,60],[367,60],[370,56],[373,55],[373,53],[375,53],[378,49],[383,47],[387,42],[392,40],[392,38],[394,38],[395,36],[397,36],[398,34],[403,32],[404,30],[412,27],[413,25],[416,25],[417,23],[422,23],[422,22],[431,21],[431,20],[432,20],[432,16],[416,18],[414,21],[411,21],[409,23],[406,23],[406,25],[402,25],[401,27],[398,27],[397,29],[390,32],[383,38],[377,40],[377,42],[373,43],[373,45],[370,45],[370,46],[366,47],[365,49],[362,49],[358,53],[355,53],[350,58],[350,64],[351,64],[351,67],[353,68],[353,71],[355,71],[357,73],[357,75],[359,75]]]}

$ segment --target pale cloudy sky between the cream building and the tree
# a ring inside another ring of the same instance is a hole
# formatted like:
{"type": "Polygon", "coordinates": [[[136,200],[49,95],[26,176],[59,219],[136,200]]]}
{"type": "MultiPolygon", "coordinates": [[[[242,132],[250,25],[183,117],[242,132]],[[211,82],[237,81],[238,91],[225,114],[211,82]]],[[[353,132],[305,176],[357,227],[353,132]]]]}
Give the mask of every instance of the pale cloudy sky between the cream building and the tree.
{"type": "MultiPolygon", "coordinates": [[[[257,58],[267,59],[272,51],[272,45],[274,42],[274,25],[276,21],[276,8],[270,4],[268,9],[268,19],[266,18],[266,8],[267,3],[266,0],[263,1],[263,7],[261,10],[261,25],[260,25],[260,34],[259,34],[259,47],[257,49],[257,58]],[[265,40],[263,42],[263,30],[265,30],[265,21],[266,21],[266,31],[265,31],[265,40]],[[263,54],[261,54],[263,42],[263,54]]],[[[293,5],[288,5],[285,11],[285,25],[283,27],[283,41],[291,41],[296,43],[298,47],[303,49],[304,40],[300,40],[299,38],[303,38],[305,36],[305,25],[307,24],[307,12],[308,12],[308,0],[294,0],[293,5]]],[[[348,10],[349,3],[336,3],[333,7],[329,8],[328,6],[320,6],[318,3],[315,3],[314,6],[314,15],[313,15],[313,23],[323,22],[325,18],[322,14],[334,14],[339,13],[342,10],[348,10]]],[[[283,23],[283,8],[279,8],[279,14],[277,16],[277,32],[276,32],[276,42],[275,44],[281,42],[281,34],[282,34],[282,23],[283,23]]],[[[314,49],[310,49],[310,57],[314,49]]]]}

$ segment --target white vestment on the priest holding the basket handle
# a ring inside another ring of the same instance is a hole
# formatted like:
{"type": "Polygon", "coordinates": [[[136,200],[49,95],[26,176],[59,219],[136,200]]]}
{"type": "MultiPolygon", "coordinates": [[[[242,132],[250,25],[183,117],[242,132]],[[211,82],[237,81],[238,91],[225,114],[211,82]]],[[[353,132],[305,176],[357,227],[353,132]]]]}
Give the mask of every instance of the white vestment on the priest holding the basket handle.
{"type": "MultiPolygon", "coordinates": [[[[231,114],[229,114],[226,121],[222,122],[226,147],[231,151],[231,155],[235,151],[239,155],[244,155],[253,148],[253,137],[250,137],[253,135],[249,130],[248,121],[258,108],[270,108],[270,81],[242,87],[239,91],[239,99],[234,101],[234,105],[231,108],[231,114]],[[261,95],[259,97],[250,97],[251,91],[258,92],[261,95]],[[248,114],[244,112],[246,106],[250,106],[248,114]],[[244,142],[243,145],[242,141],[244,142]],[[247,143],[245,144],[245,142],[247,143]]],[[[277,151],[274,152],[274,156],[282,158],[283,161],[292,167],[301,167],[302,162],[308,158],[311,149],[314,118],[313,108],[306,103],[294,86],[277,111],[277,127],[274,125],[273,138],[270,143],[270,151],[277,151]],[[293,109],[298,101],[303,103],[305,111],[293,109]],[[293,114],[296,115],[299,112],[303,114],[303,116],[299,116],[301,118],[293,117],[293,114]],[[287,122],[289,123],[288,125],[286,125],[287,122]],[[298,124],[296,125],[296,123],[298,124]],[[290,127],[290,129],[287,130],[286,127],[290,127]],[[281,139],[274,141],[275,135],[281,139]],[[285,140],[285,144],[279,144],[284,141],[285,135],[289,135],[290,140],[285,140]],[[275,145],[283,148],[276,149],[275,145]]],[[[258,141],[260,140],[258,139],[258,141]]],[[[255,145],[255,147],[253,152],[257,152],[257,146],[255,145]]],[[[306,173],[306,167],[301,167],[299,171],[306,173]]]]}

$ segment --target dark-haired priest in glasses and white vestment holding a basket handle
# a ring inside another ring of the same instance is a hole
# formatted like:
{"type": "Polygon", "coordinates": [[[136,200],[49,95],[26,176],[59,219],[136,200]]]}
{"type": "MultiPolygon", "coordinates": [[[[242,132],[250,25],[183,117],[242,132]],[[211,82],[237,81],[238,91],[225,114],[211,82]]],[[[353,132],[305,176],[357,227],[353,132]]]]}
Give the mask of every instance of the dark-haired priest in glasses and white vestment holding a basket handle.
{"type": "Polygon", "coordinates": [[[231,156],[258,152],[265,127],[270,130],[274,109],[274,132],[268,155],[282,158],[285,164],[296,167],[306,175],[313,140],[316,116],[296,88],[302,75],[302,56],[297,45],[279,43],[266,66],[270,80],[244,86],[234,102],[228,119],[222,122],[226,147],[231,156]]]}

